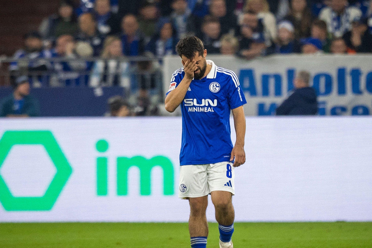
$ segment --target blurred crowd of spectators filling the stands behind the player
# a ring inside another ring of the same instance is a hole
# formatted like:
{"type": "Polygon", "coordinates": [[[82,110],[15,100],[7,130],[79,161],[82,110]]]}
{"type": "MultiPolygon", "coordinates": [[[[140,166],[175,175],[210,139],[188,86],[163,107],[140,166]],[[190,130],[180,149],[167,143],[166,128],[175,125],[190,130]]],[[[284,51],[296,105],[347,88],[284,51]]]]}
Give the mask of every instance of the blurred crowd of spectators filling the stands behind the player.
{"type": "Polygon", "coordinates": [[[372,52],[372,0],[62,0],[25,36],[10,71],[32,87],[121,86],[161,98],[161,57],[189,35],[208,54],[246,59],[372,52]]]}

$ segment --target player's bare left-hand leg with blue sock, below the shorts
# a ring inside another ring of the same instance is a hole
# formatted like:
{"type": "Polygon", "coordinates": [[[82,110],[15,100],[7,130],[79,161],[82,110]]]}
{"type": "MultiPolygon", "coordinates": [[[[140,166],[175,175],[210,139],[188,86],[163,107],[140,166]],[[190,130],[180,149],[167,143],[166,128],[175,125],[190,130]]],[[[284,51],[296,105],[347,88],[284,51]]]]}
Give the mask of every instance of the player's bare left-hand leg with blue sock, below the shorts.
{"type": "Polygon", "coordinates": [[[208,196],[189,198],[189,203],[189,232],[191,247],[205,248],[208,237],[208,222],[205,215],[208,206],[208,196]]]}

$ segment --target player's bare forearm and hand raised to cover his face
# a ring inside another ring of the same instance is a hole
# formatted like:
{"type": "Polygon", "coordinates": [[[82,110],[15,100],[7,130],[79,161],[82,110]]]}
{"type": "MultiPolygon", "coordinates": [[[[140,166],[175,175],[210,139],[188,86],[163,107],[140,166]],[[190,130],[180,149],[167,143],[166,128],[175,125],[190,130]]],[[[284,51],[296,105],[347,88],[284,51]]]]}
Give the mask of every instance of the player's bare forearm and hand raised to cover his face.
{"type": "Polygon", "coordinates": [[[165,98],[165,109],[168,112],[174,112],[177,107],[182,103],[185,98],[187,89],[190,86],[192,79],[194,78],[194,71],[196,70],[196,62],[194,60],[187,60],[186,63],[182,61],[183,70],[185,71],[185,77],[179,85],[172,91],[170,91],[165,98]]]}

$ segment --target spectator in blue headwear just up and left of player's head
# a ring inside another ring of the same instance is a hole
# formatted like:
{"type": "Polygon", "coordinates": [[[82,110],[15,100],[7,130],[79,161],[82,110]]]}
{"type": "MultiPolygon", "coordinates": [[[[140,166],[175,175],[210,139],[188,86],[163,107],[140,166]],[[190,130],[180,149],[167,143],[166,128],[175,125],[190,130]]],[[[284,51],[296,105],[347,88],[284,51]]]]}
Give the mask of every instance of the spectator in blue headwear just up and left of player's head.
{"type": "Polygon", "coordinates": [[[160,32],[151,38],[147,44],[146,51],[155,56],[165,56],[176,54],[176,45],[178,42],[176,30],[168,18],[163,18],[158,22],[160,32]]]}

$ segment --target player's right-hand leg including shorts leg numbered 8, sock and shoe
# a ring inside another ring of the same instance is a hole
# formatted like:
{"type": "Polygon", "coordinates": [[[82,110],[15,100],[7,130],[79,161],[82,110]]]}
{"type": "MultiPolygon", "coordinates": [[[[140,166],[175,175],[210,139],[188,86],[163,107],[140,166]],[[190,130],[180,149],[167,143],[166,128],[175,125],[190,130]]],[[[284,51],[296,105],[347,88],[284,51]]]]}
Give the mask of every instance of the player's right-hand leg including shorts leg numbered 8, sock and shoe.
{"type": "Polygon", "coordinates": [[[218,222],[220,247],[232,248],[235,212],[232,206],[234,195],[234,167],[230,162],[211,164],[208,167],[208,184],[218,222]]]}

